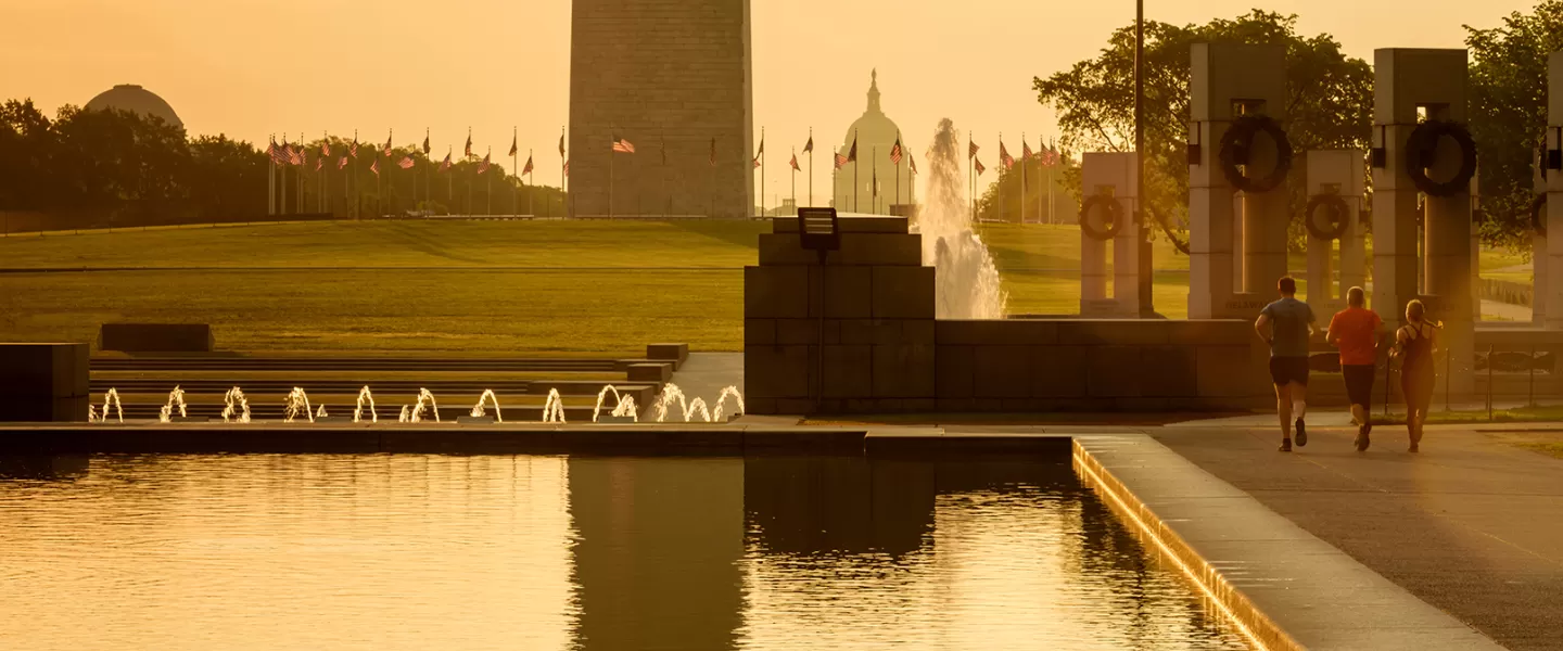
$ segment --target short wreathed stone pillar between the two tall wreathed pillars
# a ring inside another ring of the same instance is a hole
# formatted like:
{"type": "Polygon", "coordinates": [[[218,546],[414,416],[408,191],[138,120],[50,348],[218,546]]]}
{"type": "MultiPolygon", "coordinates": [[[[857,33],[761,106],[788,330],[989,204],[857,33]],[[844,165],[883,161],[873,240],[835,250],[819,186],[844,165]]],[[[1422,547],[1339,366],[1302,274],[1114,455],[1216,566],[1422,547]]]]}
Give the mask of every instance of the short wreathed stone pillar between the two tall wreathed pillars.
{"type": "Polygon", "coordinates": [[[1366,283],[1368,261],[1361,225],[1361,150],[1308,151],[1308,306],[1313,314],[1335,314],[1346,306],[1346,290],[1366,283]],[[1336,267],[1335,242],[1339,242],[1336,267]],[[1339,279],[1336,281],[1336,269],[1339,279]]]}

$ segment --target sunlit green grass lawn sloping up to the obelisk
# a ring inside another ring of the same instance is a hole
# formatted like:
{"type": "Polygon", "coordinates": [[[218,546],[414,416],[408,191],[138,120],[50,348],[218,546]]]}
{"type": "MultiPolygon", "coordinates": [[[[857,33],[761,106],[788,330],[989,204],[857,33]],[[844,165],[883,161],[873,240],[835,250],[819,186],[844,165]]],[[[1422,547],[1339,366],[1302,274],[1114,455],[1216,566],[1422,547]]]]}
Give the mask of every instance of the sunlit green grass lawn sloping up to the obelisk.
{"type": "MultiPolygon", "coordinates": [[[[100,323],[138,320],[211,323],[227,350],[739,350],[742,267],[769,228],[309,222],[0,237],[0,269],[41,270],[0,273],[0,340],[95,340],[100,323]],[[63,269],[77,272],[42,273],[63,269]]],[[[1010,312],[1078,311],[1077,228],[980,233],[1010,312]]],[[[1155,259],[1157,309],[1186,315],[1188,258],[1160,240],[1155,259]]]]}

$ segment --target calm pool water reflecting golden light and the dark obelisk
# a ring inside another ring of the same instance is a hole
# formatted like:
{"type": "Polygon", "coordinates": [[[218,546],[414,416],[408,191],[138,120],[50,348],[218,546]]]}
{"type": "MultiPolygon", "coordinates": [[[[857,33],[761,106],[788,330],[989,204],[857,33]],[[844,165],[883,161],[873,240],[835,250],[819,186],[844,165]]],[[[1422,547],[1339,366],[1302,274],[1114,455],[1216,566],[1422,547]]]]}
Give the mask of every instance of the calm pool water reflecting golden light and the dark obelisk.
{"type": "Polygon", "coordinates": [[[0,457],[0,640],[1244,648],[1057,457],[0,457]]]}

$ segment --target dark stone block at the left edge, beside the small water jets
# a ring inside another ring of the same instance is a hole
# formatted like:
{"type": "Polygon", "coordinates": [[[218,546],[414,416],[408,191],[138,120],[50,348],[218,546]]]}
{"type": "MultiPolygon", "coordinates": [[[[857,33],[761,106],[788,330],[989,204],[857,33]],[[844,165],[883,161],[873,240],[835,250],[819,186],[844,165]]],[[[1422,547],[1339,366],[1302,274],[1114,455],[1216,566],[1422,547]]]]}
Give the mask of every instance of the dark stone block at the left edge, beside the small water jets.
{"type": "Polygon", "coordinates": [[[88,420],[86,343],[0,343],[0,422],[88,420]]]}

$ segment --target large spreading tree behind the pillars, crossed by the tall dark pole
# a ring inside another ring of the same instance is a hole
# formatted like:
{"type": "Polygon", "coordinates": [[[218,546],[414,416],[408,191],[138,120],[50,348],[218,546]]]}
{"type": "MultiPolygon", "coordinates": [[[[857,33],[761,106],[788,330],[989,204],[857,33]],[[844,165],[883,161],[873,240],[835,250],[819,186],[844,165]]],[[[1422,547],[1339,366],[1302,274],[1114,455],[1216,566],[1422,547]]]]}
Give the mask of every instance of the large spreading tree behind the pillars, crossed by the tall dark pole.
{"type": "MultiPolygon", "coordinates": [[[[1329,34],[1297,34],[1297,17],[1254,9],[1205,25],[1146,23],[1146,198],[1185,219],[1188,203],[1189,47],[1243,42],[1286,47],[1286,134],[1300,156],[1314,148],[1366,148],[1372,117],[1372,69],[1349,58],[1329,34]]],[[[1107,48],[1049,78],[1035,78],[1038,100],[1058,114],[1063,145],[1075,151],[1128,151],[1135,134],[1135,28],[1116,30],[1107,48]]],[[[1302,165],[1294,164],[1294,170],[1302,165]]],[[[1074,181],[1078,192],[1078,180],[1074,181]]],[[[1300,234],[1307,203],[1302,173],[1288,180],[1293,225],[1300,234]]],[[[1294,240],[1299,237],[1294,236],[1294,240]]]]}

